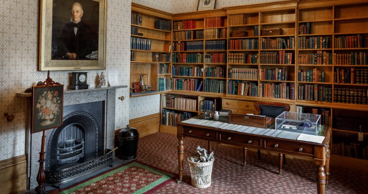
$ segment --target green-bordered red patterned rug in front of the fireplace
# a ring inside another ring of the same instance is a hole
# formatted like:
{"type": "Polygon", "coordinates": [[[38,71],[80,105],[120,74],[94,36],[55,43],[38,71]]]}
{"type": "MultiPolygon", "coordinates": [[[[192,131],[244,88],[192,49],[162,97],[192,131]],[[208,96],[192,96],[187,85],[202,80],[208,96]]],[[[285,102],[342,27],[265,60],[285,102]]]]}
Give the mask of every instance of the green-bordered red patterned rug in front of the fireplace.
{"type": "Polygon", "coordinates": [[[133,162],[104,174],[97,175],[85,182],[72,185],[59,194],[69,193],[150,193],[173,180],[174,175],[154,167],[133,162]]]}

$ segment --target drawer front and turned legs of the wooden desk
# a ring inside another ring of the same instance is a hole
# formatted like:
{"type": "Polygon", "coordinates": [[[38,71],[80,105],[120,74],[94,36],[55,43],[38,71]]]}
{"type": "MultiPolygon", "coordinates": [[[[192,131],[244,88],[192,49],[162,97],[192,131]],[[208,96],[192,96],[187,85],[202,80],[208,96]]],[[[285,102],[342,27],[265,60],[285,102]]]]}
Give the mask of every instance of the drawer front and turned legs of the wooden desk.
{"type": "MultiPolygon", "coordinates": [[[[193,118],[202,119],[203,115],[193,118]]],[[[226,122],[227,117],[220,117],[220,121],[226,122]]],[[[305,158],[313,158],[317,165],[316,181],[317,193],[325,193],[325,185],[329,179],[330,165],[330,143],[331,126],[326,126],[323,132],[325,137],[322,144],[305,142],[298,140],[288,140],[281,138],[273,138],[263,135],[247,134],[231,130],[222,130],[220,128],[201,126],[195,124],[177,123],[177,139],[178,139],[178,180],[179,183],[183,174],[183,157],[184,157],[184,139],[186,137],[207,140],[210,142],[220,142],[224,144],[237,145],[259,150],[289,154],[305,158]]],[[[279,155],[280,157],[280,155],[279,155]]],[[[281,154],[282,157],[282,154],[281,154]]],[[[281,163],[281,162],[280,162],[281,163]]],[[[282,165],[282,163],[280,164],[282,165]]]]}

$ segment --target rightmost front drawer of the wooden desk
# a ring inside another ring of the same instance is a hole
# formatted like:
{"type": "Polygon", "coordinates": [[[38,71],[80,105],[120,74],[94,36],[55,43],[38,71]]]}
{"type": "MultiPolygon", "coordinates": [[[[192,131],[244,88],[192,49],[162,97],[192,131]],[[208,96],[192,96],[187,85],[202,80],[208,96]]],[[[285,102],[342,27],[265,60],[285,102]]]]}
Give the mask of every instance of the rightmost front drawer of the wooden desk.
{"type": "Polygon", "coordinates": [[[294,152],[303,155],[314,155],[314,148],[310,146],[303,146],[297,144],[286,144],[286,143],[279,143],[277,141],[265,141],[265,148],[269,148],[271,150],[275,150],[278,152],[294,152]]]}

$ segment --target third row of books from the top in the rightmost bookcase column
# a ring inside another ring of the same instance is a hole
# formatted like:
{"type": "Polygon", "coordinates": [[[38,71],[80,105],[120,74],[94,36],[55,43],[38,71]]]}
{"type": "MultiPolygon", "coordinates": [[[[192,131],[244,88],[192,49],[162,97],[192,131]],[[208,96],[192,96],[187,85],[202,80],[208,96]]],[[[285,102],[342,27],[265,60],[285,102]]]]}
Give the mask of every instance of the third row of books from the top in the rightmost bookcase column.
{"type": "Polygon", "coordinates": [[[340,70],[340,68],[336,68],[334,83],[368,84],[368,69],[350,68],[350,70],[340,70]]]}

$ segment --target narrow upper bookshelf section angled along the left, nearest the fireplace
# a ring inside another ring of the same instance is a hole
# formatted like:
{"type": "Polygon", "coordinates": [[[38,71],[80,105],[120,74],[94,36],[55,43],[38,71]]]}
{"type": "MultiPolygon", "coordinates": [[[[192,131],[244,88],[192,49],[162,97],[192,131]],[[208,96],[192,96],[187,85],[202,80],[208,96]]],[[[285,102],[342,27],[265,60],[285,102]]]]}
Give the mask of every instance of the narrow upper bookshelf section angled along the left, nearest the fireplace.
{"type": "Polygon", "coordinates": [[[171,89],[171,20],[172,14],[132,3],[131,97],[171,89]]]}

